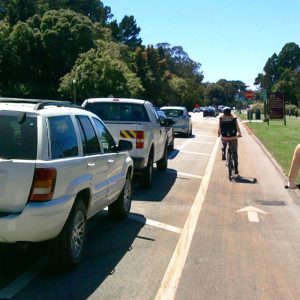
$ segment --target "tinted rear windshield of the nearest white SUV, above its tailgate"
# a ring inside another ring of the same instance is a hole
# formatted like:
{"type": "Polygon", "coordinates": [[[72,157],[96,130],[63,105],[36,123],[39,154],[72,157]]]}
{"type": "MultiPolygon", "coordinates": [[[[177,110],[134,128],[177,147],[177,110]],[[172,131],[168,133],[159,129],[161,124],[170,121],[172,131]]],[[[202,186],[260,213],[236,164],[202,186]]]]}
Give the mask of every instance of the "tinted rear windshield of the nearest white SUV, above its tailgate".
{"type": "Polygon", "coordinates": [[[36,159],[36,115],[15,112],[0,112],[0,158],[36,159]]]}

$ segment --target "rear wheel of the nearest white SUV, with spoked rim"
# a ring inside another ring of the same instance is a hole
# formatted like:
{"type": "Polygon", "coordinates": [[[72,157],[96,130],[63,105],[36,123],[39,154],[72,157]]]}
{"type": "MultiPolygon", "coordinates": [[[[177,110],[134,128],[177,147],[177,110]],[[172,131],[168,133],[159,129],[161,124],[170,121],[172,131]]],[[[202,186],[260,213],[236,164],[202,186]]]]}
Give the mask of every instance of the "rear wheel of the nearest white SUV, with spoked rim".
{"type": "Polygon", "coordinates": [[[77,196],[61,233],[49,241],[50,265],[59,270],[70,270],[79,264],[86,240],[86,209],[77,196]]]}

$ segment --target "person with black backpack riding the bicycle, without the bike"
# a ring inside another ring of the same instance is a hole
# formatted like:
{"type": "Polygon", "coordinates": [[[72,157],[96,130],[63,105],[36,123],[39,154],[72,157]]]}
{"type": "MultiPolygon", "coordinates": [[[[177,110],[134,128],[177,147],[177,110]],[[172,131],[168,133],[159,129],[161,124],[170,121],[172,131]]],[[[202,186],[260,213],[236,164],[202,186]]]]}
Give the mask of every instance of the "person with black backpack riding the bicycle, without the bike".
{"type": "Polygon", "coordinates": [[[239,174],[238,170],[238,141],[237,138],[241,137],[241,130],[237,122],[237,118],[231,114],[231,108],[226,106],[223,108],[223,114],[219,118],[218,136],[222,140],[222,160],[226,160],[226,147],[227,144],[232,151],[234,160],[234,172],[239,174]]]}

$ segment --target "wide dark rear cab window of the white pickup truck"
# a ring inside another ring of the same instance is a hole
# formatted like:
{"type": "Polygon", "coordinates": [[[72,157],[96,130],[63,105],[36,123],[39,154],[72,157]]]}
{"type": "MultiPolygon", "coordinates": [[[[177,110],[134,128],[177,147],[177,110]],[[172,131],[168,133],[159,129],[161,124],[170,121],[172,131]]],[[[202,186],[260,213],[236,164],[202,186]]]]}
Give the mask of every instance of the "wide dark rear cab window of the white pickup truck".
{"type": "Polygon", "coordinates": [[[87,110],[103,121],[150,122],[143,105],[120,102],[87,103],[87,110]]]}

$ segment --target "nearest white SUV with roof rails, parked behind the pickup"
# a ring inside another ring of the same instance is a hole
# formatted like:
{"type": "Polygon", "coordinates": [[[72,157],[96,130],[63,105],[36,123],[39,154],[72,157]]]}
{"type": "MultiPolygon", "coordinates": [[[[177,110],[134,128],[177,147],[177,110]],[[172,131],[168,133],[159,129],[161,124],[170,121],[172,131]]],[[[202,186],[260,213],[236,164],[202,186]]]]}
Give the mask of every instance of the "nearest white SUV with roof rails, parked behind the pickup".
{"type": "Polygon", "coordinates": [[[0,132],[0,243],[48,240],[51,264],[76,266],[87,219],[129,214],[132,144],[63,101],[0,98],[0,132]]]}

